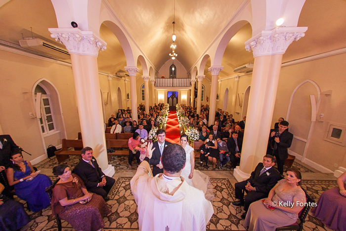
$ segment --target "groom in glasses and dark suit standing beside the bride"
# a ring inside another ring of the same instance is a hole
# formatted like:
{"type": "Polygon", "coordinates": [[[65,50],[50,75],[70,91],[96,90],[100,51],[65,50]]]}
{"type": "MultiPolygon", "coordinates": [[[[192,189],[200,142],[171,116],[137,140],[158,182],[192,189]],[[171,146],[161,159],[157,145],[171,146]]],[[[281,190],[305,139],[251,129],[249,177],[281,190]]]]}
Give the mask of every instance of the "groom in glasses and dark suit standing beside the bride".
{"type": "Polygon", "coordinates": [[[163,129],[158,129],[156,132],[157,141],[153,143],[153,156],[151,157],[149,164],[153,165],[153,176],[155,177],[159,173],[163,173],[163,166],[161,163],[161,156],[164,148],[171,144],[171,142],[166,141],[166,131],[163,129]]]}

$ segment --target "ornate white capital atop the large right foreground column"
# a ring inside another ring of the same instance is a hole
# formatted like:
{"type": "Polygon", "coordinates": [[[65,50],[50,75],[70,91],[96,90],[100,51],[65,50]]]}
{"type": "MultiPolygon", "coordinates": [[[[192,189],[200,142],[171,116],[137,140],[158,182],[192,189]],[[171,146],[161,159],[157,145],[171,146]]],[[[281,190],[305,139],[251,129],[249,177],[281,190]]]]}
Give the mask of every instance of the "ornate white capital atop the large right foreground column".
{"type": "Polygon", "coordinates": [[[307,27],[277,27],[271,31],[262,31],[245,42],[245,49],[253,51],[254,57],[284,54],[293,41],[305,36],[307,27]]]}

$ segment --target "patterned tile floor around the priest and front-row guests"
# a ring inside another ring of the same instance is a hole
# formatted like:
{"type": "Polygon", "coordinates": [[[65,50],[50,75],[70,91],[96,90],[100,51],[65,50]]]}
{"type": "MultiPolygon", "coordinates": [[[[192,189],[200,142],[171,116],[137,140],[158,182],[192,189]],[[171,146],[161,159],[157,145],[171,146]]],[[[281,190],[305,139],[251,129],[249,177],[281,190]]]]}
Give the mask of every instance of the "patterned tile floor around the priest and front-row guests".
{"type": "MultiPolygon", "coordinates": [[[[72,156],[65,163],[74,167],[80,157],[72,156]]],[[[133,195],[130,190],[130,179],[135,173],[136,167],[129,169],[126,157],[112,157],[109,161],[115,167],[115,174],[113,176],[116,179],[116,184],[112,188],[109,196],[111,200],[107,202],[111,214],[104,218],[106,231],[136,231],[138,230],[138,214],[136,211],[136,204],[133,199],[133,195]]],[[[43,174],[48,175],[51,178],[52,167],[57,164],[55,157],[44,160],[43,162],[35,165],[42,171],[43,174]]],[[[196,166],[198,161],[196,161],[196,166]]],[[[136,164],[134,163],[133,166],[136,164]]],[[[316,198],[316,201],[320,194],[332,187],[336,186],[336,178],[332,174],[319,173],[317,170],[308,167],[307,165],[296,161],[294,167],[300,169],[303,175],[303,188],[309,195],[316,198]]],[[[196,167],[203,171],[211,178],[211,183],[214,185],[215,199],[213,202],[214,215],[207,225],[209,231],[219,230],[246,230],[243,227],[243,222],[240,218],[244,212],[242,207],[235,207],[232,205],[234,198],[234,184],[237,182],[233,177],[233,171],[230,171],[230,167],[226,165],[222,171],[216,169],[216,171],[210,171],[204,167],[196,167]]],[[[28,226],[24,227],[22,231],[57,231],[56,223],[51,216],[50,208],[46,208],[43,211],[32,213],[28,211],[32,221],[28,226]]],[[[63,231],[73,231],[71,226],[63,222],[63,231]]],[[[310,214],[304,224],[305,231],[329,231],[324,225],[310,214]]]]}

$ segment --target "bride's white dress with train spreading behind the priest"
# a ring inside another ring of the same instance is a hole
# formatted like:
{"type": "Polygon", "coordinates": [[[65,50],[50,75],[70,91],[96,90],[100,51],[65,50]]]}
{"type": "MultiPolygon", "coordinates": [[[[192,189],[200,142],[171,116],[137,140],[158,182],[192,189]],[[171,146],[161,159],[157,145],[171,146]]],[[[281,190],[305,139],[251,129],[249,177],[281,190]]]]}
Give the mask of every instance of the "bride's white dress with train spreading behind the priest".
{"type": "Polygon", "coordinates": [[[206,174],[200,172],[199,170],[194,169],[193,177],[192,179],[189,179],[189,175],[191,173],[191,163],[190,163],[191,154],[190,153],[191,151],[193,151],[193,148],[187,143],[184,149],[186,154],[186,163],[185,163],[185,167],[181,171],[180,176],[182,176],[189,185],[202,190],[205,194],[205,198],[213,202],[213,199],[215,197],[213,193],[214,187],[209,182],[209,177],[206,174]]]}

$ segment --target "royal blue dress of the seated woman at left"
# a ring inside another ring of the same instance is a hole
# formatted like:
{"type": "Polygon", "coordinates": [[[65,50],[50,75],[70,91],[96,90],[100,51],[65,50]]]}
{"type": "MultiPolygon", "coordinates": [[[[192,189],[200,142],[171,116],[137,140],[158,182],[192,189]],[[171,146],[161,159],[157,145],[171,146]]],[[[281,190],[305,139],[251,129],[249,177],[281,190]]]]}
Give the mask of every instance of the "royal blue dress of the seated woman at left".
{"type": "MultiPolygon", "coordinates": [[[[15,170],[13,173],[14,181],[18,181],[31,174],[28,163],[24,161],[24,164],[25,172],[15,170]]],[[[45,188],[51,184],[51,180],[46,175],[39,174],[31,181],[23,181],[13,186],[16,195],[28,203],[31,211],[37,212],[50,205],[50,198],[45,192],[45,188]]]]}

